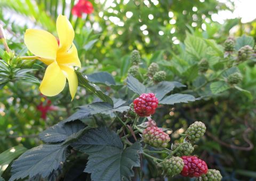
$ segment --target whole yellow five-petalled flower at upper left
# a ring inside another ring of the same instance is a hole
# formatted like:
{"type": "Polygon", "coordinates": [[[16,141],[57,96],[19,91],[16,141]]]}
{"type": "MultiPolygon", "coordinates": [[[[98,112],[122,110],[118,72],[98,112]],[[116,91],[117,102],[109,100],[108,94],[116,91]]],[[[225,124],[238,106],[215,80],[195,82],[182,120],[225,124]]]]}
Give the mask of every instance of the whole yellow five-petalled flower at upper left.
{"type": "Polygon", "coordinates": [[[25,44],[39,60],[47,66],[43,81],[39,87],[45,96],[56,96],[65,87],[68,79],[69,91],[72,99],[78,87],[74,66],[81,67],[76,46],[73,44],[75,32],[66,16],[57,18],[57,39],[44,30],[27,29],[25,44]]]}

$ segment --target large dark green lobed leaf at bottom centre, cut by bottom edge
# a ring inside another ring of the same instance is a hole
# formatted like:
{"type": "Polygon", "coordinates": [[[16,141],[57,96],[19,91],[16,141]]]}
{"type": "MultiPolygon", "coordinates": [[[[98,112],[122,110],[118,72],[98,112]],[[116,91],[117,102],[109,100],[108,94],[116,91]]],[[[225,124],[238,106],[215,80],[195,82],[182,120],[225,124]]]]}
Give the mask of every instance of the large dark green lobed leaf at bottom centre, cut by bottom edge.
{"type": "Polygon", "coordinates": [[[135,142],[123,150],[119,136],[106,127],[87,132],[71,146],[89,154],[84,171],[91,173],[92,180],[131,180],[134,175],[132,168],[140,167],[140,143],[135,142]]]}

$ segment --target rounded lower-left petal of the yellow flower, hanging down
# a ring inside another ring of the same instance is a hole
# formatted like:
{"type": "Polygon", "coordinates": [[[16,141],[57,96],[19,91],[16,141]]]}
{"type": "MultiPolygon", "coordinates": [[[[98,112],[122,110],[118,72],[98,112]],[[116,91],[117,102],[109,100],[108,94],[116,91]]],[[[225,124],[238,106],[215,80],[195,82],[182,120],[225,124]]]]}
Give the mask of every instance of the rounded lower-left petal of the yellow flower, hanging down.
{"type": "Polygon", "coordinates": [[[45,96],[56,96],[64,89],[65,84],[66,76],[61,71],[57,62],[53,62],[46,68],[39,89],[45,96]]]}

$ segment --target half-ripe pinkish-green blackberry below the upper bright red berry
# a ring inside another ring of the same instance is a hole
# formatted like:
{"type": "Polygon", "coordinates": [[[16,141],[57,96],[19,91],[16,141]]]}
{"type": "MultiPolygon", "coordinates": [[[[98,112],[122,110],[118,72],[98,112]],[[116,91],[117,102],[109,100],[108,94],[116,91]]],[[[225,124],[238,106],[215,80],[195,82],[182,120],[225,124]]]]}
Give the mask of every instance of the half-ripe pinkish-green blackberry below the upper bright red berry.
{"type": "Polygon", "coordinates": [[[157,126],[150,125],[143,131],[143,141],[156,148],[165,148],[170,142],[170,136],[157,126]]]}

